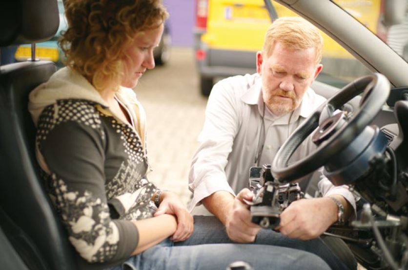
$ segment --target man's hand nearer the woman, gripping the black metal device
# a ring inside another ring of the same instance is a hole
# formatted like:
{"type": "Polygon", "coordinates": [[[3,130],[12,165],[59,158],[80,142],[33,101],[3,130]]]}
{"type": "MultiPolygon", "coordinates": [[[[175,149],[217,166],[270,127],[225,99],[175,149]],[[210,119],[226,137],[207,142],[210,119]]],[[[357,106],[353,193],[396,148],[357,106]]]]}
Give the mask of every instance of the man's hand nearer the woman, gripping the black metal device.
{"type": "Polygon", "coordinates": [[[251,212],[249,206],[243,199],[252,201],[253,193],[248,189],[243,189],[235,197],[231,211],[226,216],[225,228],[228,237],[235,242],[254,242],[255,237],[261,227],[251,222],[251,212]]]}

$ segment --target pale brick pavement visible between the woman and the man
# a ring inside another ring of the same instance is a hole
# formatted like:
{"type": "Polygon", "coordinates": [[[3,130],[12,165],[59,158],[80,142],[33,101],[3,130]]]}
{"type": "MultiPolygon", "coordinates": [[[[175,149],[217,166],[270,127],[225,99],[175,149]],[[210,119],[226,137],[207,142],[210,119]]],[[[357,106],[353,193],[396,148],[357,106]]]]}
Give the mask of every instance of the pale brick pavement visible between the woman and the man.
{"type": "Polygon", "coordinates": [[[172,48],[168,64],[146,72],[135,92],[147,115],[147,152],[154,170],[148,178],[186,203],[190,161],[207,102],[199,91],[193,49],[172,48]]]}

